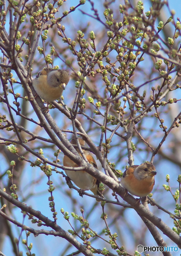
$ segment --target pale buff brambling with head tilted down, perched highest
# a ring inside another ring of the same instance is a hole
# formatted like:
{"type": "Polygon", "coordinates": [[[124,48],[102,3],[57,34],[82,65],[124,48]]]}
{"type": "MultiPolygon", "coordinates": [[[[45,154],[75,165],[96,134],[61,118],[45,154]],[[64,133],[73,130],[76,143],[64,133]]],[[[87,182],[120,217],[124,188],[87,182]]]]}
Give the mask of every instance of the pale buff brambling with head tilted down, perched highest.
{"type": "Polygon", "coordinates": [[[33,79],[33,87],[41,99],[50,102],[58,100],[68,84],[70,76],[61,69],[44,68],[33,79]]]}

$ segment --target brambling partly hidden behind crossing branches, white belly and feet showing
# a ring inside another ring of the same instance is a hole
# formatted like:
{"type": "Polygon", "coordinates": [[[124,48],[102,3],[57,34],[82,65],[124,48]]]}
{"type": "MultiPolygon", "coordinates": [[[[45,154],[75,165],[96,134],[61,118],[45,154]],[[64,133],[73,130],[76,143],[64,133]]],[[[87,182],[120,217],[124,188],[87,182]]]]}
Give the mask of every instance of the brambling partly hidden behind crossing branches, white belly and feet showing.
{"type": "MultiPolygon", "coordinates": [[[[81,146],[85,145],[85,142],[82,138],[78,138],[79,143],[81,146]]],[[[77,145],[76,139],[73,138],[70,141],[71,144],[77,145]]],[[[77,152],[79,155],[81,155],[80,151],[78,148],[76,148],[77,152]]],[[[97,164],[94,160],[94,158],[90,155],[89,151],[82,150],[84,155],[86,156],[88,162],[92,164],[96,169],[97,169],[97,164]]],[[[68,156],[64,156],[63,158],[63,165],[67,167],[78,167],[76,163],[74,163],[68,156]]],[[[85,190],[91,190],[95,196],[102,196],[101,191],[99,190],[99,180],[91,176],[89,173],[85,172],[84,170],[80,171],[70,171],[70,170],[65,170],[66,175],[73,181],[73,183],[81,188],[83,191],[85,190]]],[[[79,193],[81,195],[81,192],[79,193]]],[[[96,201],[100,202],[99,199],[96,199],[96,201]]]]}

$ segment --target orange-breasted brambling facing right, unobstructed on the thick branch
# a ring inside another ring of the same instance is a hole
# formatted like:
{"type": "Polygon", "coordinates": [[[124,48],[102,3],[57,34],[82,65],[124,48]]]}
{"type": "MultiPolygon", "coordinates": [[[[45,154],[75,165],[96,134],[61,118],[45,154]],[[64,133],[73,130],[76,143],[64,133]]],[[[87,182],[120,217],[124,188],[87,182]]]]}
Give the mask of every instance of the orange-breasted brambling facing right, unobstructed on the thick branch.
{"type": "Polygon", "coordinates": [[[121,186],[134,196],[147,196],[155,184],[155,166],[151,163],[133,165],[123,173],[121,186]]]}

